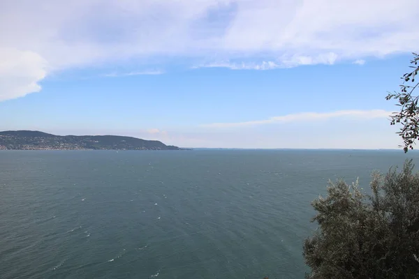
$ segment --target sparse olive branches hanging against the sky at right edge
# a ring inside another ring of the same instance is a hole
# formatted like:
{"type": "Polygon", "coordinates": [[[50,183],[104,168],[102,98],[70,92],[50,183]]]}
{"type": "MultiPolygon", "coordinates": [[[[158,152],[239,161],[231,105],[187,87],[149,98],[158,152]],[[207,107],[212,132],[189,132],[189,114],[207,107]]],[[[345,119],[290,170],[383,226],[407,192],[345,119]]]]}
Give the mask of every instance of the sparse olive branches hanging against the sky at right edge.
{"type": "Polygon", "coordinates": [[[419,96],[413,96],[413,91],[419,85],[418,81],[415,83],[415,77],[419,73],[418,61],[419,55],[413,53],[413,59],[411,60],[413,66],[410,66],[413,70],[403,75],[403,83],[400,85],[401,92],[389,93],[388,96],[385,97],[386,100],[397,100],[397,106],[400,107],[400,111],[395,112],[395,114],[391,116],[390,124],[402,124],[402,128],[400,128],[398,134],[403,138],[404,152],[413,149],[415,140],[419,140],[419,96]]]}

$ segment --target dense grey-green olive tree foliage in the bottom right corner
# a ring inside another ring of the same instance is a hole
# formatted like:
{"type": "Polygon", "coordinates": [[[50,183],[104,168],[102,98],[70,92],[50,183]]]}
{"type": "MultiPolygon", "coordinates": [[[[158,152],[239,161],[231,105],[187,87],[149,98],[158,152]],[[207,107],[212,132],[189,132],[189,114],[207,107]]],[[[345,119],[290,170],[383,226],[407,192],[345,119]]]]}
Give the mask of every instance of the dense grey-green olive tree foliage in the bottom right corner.
{"type": "Polygon", "coordinates": [[[374,173],[371,189],[330,182],[312,202],[319,227],[304,242],[306,278],[419,278],[419,174],[407,161],[374,173]]]}

